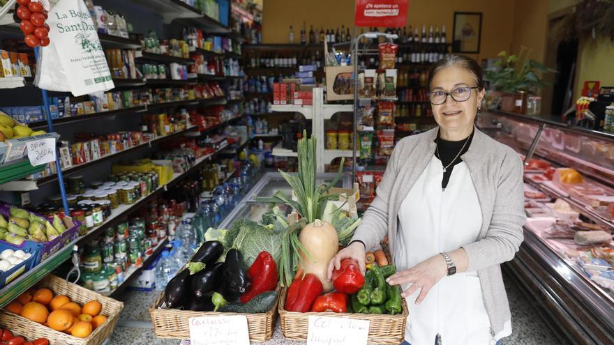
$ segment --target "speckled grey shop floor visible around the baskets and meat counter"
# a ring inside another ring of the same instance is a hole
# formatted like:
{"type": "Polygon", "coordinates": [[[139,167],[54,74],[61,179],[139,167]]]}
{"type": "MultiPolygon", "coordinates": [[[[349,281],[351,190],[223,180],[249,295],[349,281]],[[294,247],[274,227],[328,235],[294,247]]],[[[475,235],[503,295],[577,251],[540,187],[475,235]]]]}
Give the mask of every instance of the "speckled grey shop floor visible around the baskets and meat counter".
{"type": "MultiPolygon", "coordinates": [[[[525,296],[514,282],[504,277],[507,296],[511,308],[511,323],[513,333],[510,337],[502,339],[502,345],[560,345],[561,340],[556,337],[551,328],[534,310],[525,296]]],[[[126,291],[121,300],[126,303],[120,321],[115,328],[109,345],[177,345],[177,340],[158,339],[151,328],[149,307],[156,300],[159,291],[153,293],[126,291]]],[[[273,339],[265,345],[278,344],[305,344],[292,342],[281,335],[279,323],[273,339]]]]}

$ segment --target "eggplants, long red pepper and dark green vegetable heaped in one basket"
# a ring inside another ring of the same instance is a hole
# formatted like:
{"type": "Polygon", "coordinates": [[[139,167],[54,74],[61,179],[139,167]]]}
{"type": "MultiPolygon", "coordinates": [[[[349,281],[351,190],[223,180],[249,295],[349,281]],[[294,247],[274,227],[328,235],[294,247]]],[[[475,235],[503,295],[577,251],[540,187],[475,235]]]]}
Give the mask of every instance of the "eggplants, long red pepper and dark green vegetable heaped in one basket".
{"type": "Polygon", "coordinates": [[[277,265],[262,251],[246,265],[236,248],[225,251],[222,242],[203,243],[187,267],[167,284],[167,308],[196,312],[262,313],[277,298],[277,265]]]}

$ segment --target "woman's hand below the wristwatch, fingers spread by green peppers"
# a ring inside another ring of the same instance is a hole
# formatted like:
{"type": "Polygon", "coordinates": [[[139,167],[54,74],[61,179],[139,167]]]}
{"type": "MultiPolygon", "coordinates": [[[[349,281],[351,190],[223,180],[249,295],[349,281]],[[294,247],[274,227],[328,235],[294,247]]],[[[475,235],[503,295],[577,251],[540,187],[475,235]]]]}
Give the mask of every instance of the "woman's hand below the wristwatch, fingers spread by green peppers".
{"type": "Polygon", "coordinates": [[[447,274],[447,265],[443,256],[435,255],[418,263],[416,266],[409,270],[403,270],[391,275],[386,279],[390,285],[402,285],[412,284],[409,289],[403,291],[401,296],[406,298],[412,293],[421,289],[418,298],[416,298],[416,304],[420,304],[426,297],[428,291],[430,291],[439,280],[447,274]]]}

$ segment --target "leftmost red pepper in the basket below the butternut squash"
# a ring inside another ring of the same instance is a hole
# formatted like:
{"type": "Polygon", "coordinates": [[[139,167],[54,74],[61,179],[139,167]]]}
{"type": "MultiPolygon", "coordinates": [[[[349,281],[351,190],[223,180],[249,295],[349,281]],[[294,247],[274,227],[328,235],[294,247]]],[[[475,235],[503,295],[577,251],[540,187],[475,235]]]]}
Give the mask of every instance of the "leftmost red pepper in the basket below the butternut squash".
{"type": "Polygon", "coordinates": [[[284,308],[288,312],[309,312],[313,301],[322,292],[324,287],[316,275],[307,273],[304,277],[296,277],[288,288],[284,308]]]}

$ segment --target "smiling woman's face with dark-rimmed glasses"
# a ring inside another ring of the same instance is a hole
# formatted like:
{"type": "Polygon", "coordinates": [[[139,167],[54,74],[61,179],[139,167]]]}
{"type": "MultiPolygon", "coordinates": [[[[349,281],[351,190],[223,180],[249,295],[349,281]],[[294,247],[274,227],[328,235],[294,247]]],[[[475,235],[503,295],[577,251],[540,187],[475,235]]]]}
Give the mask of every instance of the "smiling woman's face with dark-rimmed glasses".
{"type": "MultiPolygon", "coordinates": [[[[455,91],[454,97],[456,99],[463,99],[467,97],[465,93],[467,89],[459,88],[477,85],[472,72],[465,68],[451,66],[439,70],[433,77],[430,86],[431,93],[436,93],[437,91],[450,93],[455,91]]],[[[477,107],[481,103],[482,98],[484,98],[484,89],[471,89],[468,92],[470,92],[469,98],[464,102],[456,101],[452,98],[452,95],[448,95],[446,101],[441,105],[431,104],[435,121],[440,125],[442,134],[450,137],[444,137],[444,139],[454,140],[454,137],[460,136],[456,140],[462,140],[471,134],[477,107]]]]}

